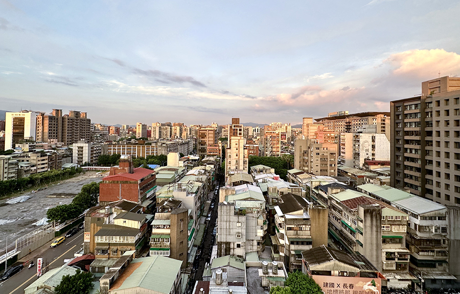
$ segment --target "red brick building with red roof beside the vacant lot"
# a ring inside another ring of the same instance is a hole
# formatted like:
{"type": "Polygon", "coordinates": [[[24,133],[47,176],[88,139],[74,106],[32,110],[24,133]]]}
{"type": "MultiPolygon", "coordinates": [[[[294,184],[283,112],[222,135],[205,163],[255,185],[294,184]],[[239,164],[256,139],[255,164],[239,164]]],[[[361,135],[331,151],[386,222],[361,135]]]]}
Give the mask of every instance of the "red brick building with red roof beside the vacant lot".
{"type": "MultiPolygon", "coordinates": [[[[155,195],[155,171],[133,168],[131,156],[122,155],[118,167],[110,169],[110,175],[104,177],[99,186],[99,202],[105,205],[121,199],[141,204],[153,200],[155,195]]],[[[145,203],[144,203],[145,204],[145,203]]]]}

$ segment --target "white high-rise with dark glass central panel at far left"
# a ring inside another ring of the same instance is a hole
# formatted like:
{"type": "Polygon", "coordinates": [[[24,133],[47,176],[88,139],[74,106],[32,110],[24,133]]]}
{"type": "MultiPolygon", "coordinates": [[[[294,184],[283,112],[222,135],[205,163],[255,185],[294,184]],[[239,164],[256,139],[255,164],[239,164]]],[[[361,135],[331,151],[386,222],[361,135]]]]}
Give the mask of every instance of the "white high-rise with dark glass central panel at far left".
{"type": "Polygon", "coordinates": [[[37,112],[28,110],[6,113],[5,150],[14,149],[24,139],[35,141],[37,115],[37,112]]]}

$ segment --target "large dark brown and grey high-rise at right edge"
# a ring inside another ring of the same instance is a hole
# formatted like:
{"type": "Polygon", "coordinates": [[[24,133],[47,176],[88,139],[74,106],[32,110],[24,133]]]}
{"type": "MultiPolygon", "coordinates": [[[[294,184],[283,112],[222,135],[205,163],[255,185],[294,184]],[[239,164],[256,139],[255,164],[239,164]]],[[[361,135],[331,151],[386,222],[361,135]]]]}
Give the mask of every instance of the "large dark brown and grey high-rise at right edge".
{"type": "Polygon", "coordinates": [[[460,205],[460,78],[422,82],[422,95],[391,101],[391,186],[460,205]]]}

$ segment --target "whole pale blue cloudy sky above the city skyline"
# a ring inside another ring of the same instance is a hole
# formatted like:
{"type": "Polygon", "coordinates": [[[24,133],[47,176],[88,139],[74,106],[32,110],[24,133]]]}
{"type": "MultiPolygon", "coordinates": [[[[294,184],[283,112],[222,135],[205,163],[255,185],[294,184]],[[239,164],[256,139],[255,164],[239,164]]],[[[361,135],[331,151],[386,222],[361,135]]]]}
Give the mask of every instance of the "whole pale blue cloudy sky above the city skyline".
{"type": "Polygon", "coordinates": [[[460,1],[0,0],[0,109],[301,123],[460,76],[460,1]]]}

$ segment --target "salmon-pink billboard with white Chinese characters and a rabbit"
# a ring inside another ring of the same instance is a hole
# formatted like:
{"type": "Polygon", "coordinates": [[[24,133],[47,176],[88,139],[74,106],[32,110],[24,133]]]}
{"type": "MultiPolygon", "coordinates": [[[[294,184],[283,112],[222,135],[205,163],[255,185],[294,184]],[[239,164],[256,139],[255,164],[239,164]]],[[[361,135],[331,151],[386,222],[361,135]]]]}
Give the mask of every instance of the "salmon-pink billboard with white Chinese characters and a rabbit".
{"type": "Polygon", "coordinates": [[[380,278],[312,275],[325,294],[381,294],[380,278]]]}

